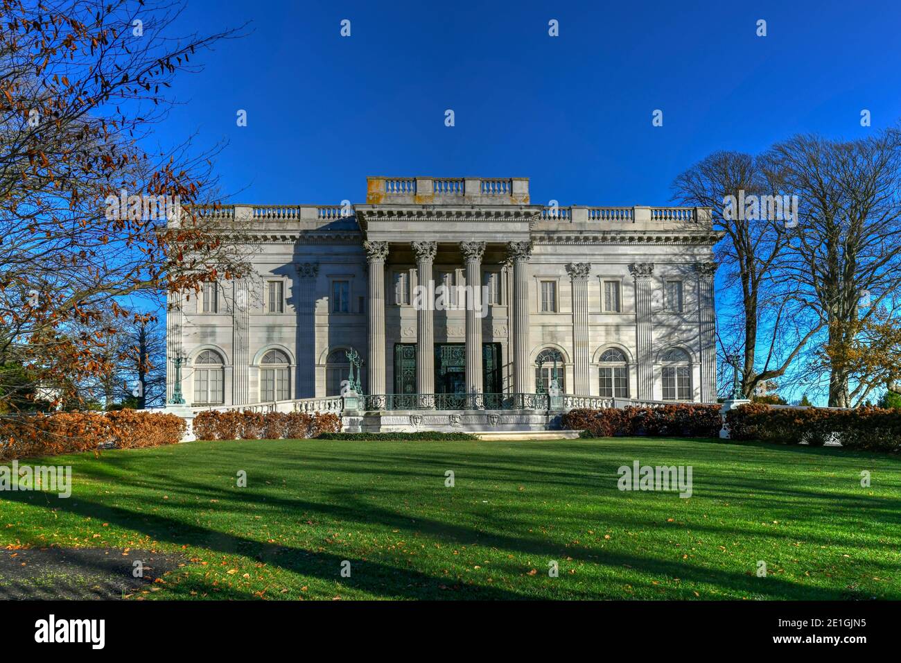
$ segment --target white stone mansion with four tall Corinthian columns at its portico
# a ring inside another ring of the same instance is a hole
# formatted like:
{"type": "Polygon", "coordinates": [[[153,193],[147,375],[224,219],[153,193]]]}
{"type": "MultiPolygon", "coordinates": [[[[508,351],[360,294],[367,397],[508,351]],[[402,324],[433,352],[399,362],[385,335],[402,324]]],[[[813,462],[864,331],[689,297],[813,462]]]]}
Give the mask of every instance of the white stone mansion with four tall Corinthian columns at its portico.
{"type": "Polygon", "coordinates": [[[524,178],[370,177],[362,205],[197,211],[252,235],[255,273],[170,297],[168,402],[716,401],[709,208],[549,207],[524,178]]]}

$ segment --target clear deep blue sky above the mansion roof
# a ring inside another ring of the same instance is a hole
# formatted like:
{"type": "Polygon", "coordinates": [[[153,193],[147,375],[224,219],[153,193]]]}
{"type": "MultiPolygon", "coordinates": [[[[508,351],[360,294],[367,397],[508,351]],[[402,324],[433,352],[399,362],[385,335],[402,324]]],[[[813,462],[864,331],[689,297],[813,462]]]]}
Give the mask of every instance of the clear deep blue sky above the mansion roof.
{"type": "Polygon", "coordinates": [[[179,78],[157,134],[227,141],[232,202],[362,202],[367,175],[475,175],[529,177],[533,203],[663,204],[714,150],[901,115],[898,3],[188,0],[181,30],[245,21],[179,78]]]}

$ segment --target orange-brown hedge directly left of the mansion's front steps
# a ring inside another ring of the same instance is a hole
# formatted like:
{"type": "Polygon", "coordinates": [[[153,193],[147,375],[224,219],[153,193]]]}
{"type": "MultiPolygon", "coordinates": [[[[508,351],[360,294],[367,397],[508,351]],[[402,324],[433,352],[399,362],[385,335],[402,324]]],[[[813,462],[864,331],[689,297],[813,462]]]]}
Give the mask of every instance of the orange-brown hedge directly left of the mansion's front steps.
{"type": "Polygon", "coordinates": [[[194,418],[197,439],[304,439],[341,430],[341,418],[332,413],[251,412],[205,410],[194,418]]]}

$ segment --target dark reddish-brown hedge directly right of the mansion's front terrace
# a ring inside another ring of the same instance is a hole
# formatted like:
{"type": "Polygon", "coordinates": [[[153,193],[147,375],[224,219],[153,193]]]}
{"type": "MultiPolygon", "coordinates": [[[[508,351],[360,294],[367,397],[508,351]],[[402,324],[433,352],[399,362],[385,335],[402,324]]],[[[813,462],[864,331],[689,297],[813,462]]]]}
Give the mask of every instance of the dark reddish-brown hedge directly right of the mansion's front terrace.
{"type": "Polygon", "coordinates": [[[584,431],[583,437],[719,437],[723,419],[719,405],[680,403],[660,408],[569,410],[560,424],[584,431]]]}

